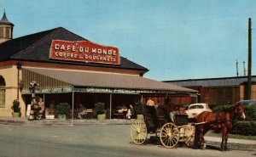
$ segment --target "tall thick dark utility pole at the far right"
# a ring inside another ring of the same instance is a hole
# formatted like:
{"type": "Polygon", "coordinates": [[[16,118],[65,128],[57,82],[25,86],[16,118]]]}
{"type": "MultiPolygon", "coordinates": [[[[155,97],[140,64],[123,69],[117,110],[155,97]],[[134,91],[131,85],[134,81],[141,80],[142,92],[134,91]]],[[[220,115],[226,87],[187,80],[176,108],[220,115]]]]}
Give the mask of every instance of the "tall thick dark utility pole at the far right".
{"type": "Polygon", "coordinates": [[[248,21],[248,87],[247,87],[247,99],[251,99],[252,89],[252,21],[249,18],[248,21]]]}

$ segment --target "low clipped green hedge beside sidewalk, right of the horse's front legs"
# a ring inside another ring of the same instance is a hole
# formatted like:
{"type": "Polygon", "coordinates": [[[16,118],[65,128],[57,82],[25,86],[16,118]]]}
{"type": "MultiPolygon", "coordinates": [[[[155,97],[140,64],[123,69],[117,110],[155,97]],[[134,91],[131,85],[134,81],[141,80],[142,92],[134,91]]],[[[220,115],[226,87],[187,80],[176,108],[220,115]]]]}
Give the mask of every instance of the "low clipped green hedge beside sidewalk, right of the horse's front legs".
{"type": "Polygon", "coordinates": [[[239,135],[256,135],[256,121],[235,121],[233,123],[232,132],[239,135]]]}

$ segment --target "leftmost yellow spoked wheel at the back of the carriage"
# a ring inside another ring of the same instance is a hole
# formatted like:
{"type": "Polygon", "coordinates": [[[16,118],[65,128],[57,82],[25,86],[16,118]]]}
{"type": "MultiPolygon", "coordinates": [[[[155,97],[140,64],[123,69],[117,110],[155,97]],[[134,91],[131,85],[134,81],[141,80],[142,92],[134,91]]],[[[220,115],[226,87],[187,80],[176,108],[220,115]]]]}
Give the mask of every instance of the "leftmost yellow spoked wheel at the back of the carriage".
{"type": "Polygon", "coordinates": [[[143,144],[147,139],[147,126],[142,120],[135,120],[131,123],[131,139],[133,143],[143,144]]]}

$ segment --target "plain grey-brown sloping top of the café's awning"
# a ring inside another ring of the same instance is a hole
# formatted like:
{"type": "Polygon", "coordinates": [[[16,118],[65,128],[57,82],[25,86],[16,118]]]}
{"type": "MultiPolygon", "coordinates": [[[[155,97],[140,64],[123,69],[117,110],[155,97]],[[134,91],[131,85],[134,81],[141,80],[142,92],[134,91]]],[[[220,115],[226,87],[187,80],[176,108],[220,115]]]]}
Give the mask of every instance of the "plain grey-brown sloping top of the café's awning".
{"type": "Polygon", "coordinates": [[[197,91],[172,85],[161,81],[154,81],[143,76],[89,72],[81,70],[54,70],[25,68],[32,72],[64,81],[75,87],[108,87],[123,89],[157,90],[164,92],[197,93],[197,91]],[[72,76],[72,77],[70,77],[72,76]]]}

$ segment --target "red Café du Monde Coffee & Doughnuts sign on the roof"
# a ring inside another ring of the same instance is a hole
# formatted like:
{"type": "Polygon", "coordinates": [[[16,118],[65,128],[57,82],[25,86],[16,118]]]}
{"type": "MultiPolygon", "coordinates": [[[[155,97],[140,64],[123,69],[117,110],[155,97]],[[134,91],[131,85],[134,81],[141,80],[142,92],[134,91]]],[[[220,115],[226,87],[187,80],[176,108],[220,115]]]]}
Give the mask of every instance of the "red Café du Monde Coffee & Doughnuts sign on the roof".
{"type": "Polygon", "coordinates": [[[52,40],[49,59],[96,64],[120,64],[119,48],[90,41],[52,40]]]}

